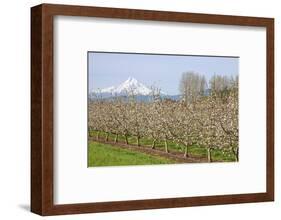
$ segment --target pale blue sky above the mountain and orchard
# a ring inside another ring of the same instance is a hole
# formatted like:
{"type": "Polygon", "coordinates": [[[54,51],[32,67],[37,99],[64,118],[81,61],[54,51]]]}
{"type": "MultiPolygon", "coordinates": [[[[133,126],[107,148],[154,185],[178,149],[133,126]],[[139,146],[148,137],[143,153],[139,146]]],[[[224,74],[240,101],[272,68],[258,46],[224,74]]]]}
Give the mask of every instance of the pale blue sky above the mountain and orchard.
{"type": "Polygon", "coordinates": [[[176,95],[183,72],[197,72],[207,80],[214,74],[236,76],[239,58],[89,52],[88,65],[89,91],[116,86],[134,77],[148,87],[157,86],[176,95]]]}

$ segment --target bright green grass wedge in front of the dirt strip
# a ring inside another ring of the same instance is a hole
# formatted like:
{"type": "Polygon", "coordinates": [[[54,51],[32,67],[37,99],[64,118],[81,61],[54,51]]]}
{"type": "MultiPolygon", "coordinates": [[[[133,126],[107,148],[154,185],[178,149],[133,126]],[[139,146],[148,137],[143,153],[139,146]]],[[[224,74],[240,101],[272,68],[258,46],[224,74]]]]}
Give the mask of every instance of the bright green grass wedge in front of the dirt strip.
{"type": "Polygon", "coordinates": [[[113,147],[110,144],[89,142],[88,166],[119,166],[175,163],[166,158],[113,147]]]}

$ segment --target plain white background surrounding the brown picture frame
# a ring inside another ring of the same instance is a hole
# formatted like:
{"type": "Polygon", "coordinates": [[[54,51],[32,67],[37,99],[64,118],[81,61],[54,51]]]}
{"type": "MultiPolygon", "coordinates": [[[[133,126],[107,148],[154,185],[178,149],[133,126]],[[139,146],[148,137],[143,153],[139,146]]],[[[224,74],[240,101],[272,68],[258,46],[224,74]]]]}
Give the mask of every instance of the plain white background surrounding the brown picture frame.
{"type": "MultiPolygon", "coordinates": [[[[264,0],[61,0],[45,3],[82,4],[107,7],[218,13],[274,17],[276,30],[276,201],[274,203],[221,205],[147,211],[79,215],[81,219],[276,219],[281,213],[280,143],[281,63],[278,41],[281,31],[279,1],[264,0]]],[[[30,213],[30,7],[39,0],[7,0],[0,7],[0,217],[1,219],[39,219],[30,213]]],[[[254,83],[254,74],[253,74],[254,83]]],[[[47,217],[77,219],[77,216],[47,217]]]]}

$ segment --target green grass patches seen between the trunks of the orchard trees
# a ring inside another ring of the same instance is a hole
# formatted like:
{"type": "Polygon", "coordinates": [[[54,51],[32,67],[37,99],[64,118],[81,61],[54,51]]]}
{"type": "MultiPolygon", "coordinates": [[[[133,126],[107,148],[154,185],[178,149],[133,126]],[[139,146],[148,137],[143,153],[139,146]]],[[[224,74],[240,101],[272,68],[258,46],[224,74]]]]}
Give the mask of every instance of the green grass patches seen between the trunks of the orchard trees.
{"type": "MultiPolygon", "coordinates": [[[[95,138],[96,137],[97,132],[96,131],[92,131],[91,135],[95,138]]],[[[105,132],[100,132],[100,139],[104,140],[106,137],[106,133],[105,132]]],[[[109,140],[113,141],[115,138],[114,134],[109,134],[109,140]]],[[[119,142],[125,143],[125,137],[122,135],[119,135],[118,137],[119,142]]],[[[129,136],[128,137],[128,141],[129,144],[137,144],[137,139],[134,136],[129,136]]],[[[140,145],[142,146],[147,146],[147,147],[151,147],[153,140],[150,138],[141,138],[140,139],[140,145]]],[[[157,141],[155,147],[157,149],[161,149],[164,151],[165,148],[165,143],[164,141],[157,141]]],[[[184,146],[182,145],[178,145],[172,141],[168,141],[168,148],[169,150],[172,151],[177,151],[177,152],[182,152],[183,153],[183,149],[184,146]]],[[[207,157],[207,150],[204,147],[198,146],[198,145],[192,145],[189,146],[189,155],[190,156],[194,156],[194,157],[207,157]]],[[[225,161],[225,162],[232,162],[235,161],[235,156],[231,151],[222,151],[219,149],[215,149],[212,151],[212,160],[213,161],[225,161]]]]}

